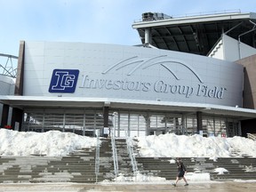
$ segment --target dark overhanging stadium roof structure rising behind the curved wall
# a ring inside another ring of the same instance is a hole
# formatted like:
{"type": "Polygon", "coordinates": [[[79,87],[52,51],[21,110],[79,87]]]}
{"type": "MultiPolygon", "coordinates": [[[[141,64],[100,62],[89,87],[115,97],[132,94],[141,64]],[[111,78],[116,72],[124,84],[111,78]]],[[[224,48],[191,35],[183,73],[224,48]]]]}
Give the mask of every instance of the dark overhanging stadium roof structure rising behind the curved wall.
{"type": "Polygon", "coordinates": [[[164,50],[207,55],[222,34],[256,48],[256,13],[220,12],[173,18],[163,13],[142,13],[135,21],[141,43],[164,50]]]}

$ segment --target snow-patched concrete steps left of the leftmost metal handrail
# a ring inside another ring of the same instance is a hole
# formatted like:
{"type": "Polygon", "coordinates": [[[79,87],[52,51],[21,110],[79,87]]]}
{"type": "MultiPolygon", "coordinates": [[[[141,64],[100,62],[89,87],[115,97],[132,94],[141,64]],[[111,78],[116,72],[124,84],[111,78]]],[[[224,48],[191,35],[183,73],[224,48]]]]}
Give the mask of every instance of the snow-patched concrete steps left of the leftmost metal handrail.
{"type": "Polygon", "coordinates": [[[95,182],[93,156],[1,156],[0,183],[95,182]]]}

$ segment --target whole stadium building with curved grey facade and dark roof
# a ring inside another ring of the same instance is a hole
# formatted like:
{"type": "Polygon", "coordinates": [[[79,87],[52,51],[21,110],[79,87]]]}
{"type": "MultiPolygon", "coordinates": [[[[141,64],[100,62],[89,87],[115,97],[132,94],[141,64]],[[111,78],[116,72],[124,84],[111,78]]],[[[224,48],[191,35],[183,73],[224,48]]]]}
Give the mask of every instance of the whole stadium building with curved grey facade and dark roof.
{"type": "Polygon", "coordinates": [[[136,46],[20,41],[1,126],[116,137],[256,132],[255,23],[253,12],[145,12],[132,24],[136,46]]]}

